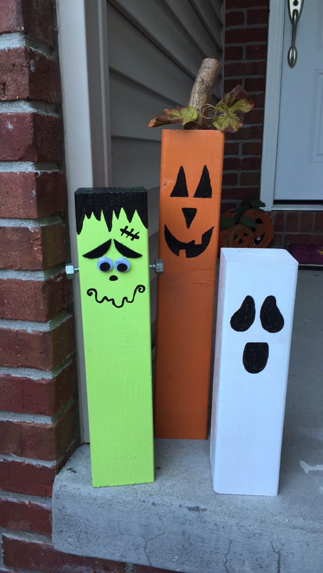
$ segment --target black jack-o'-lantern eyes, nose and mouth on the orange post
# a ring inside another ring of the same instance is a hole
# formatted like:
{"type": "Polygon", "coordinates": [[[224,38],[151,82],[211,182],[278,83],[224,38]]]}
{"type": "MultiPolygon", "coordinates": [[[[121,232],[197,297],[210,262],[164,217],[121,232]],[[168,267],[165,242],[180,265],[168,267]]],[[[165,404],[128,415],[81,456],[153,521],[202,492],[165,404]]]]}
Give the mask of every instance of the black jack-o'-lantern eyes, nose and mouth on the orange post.
{"type": "MultiPolygon", "coordinates": [[[[194,218],[196,217],[198,209],[198,207],[195,206],[193,207],[194,200],[212,198],[211,180],[207,166],[204,165],[203,167],[199,185],[197,185],[196,190],[194,191],[193,198],[189,197],[188,186],[186,184],[186,178],[185,178],[185,171],[184,168],[181,166],[178,171],[176,183],[174,185],[172,193],[170,194],[170,197],[181,198],[182,205],[187,205],[185,207],[181,207],[181,211],[185,219],[186,229],[189,229],[190,226],[192,225],[192,222],[194,221],[194,218]],[[187,203],[184,202],[184,198],[187,199],[187,203]]],[[[200,205],[199,209],[201,209],[200,205]]],[[[205,249],[207,249],[209,242],[211,241],[213,229],[214,225],[210,229],[204,231],[204,233],[201,236],[201,242],[196,242],[195,239],[182,241],[178,239],[176,236],[174,236],[174,234],[169,230],[168,226],[165,225],[164,226],[165,241],[169,249],[177,257],[180,256],[181,250],[185,251],[186,258],[198,257],[201,253],[205,251],[205,249]]]]}

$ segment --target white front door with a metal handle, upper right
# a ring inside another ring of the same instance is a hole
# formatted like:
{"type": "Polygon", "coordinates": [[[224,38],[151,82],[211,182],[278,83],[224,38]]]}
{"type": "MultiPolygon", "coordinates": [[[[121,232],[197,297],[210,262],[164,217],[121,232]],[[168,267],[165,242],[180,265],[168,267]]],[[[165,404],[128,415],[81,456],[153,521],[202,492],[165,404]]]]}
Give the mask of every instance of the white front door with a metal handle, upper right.
{"type": "MultiPolygon", "coordinates": [[[[294,0],[294,5],[297,0],[294,0]]],[[[281,103],[274,200],[323,200],[323,0],[304,0],[289,66],[291,21],[285,0],[281,103]]]]}

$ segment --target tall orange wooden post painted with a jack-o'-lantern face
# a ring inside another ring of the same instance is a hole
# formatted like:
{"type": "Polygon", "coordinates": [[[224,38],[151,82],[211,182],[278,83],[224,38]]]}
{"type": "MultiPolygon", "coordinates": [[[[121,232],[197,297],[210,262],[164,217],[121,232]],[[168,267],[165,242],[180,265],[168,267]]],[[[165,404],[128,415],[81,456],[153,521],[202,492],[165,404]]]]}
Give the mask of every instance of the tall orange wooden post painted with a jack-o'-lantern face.
{"type": "Polygon", "coordinates": [[[159,257],[164,273],[158,276],[154,414],[158,438],[207,437],[223,147],[219,131],[162,131],[159,257]],[[178,197],[186,194],[185,187],[188,196],[178,197]]]}

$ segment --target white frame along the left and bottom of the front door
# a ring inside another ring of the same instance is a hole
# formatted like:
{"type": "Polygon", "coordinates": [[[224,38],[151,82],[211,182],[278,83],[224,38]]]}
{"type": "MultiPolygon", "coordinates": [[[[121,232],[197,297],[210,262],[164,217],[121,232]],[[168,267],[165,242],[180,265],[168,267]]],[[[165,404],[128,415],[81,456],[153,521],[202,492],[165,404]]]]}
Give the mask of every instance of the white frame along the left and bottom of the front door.
{"type": "Polygon", "coordinates": [[[270,0],[260,199],[271,210],[323,210],[322,205],[274,205],[286,0],[270,0]]]}

